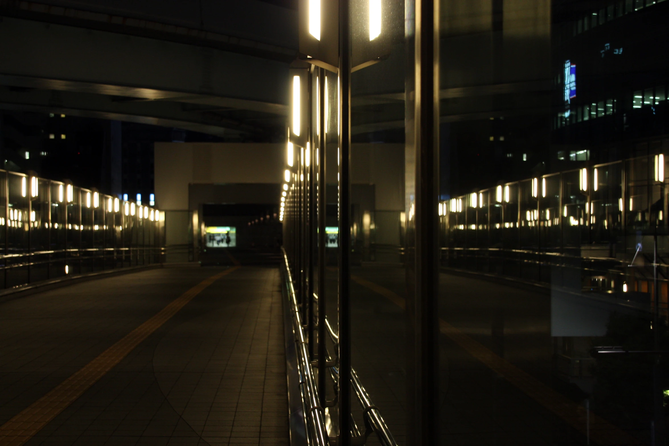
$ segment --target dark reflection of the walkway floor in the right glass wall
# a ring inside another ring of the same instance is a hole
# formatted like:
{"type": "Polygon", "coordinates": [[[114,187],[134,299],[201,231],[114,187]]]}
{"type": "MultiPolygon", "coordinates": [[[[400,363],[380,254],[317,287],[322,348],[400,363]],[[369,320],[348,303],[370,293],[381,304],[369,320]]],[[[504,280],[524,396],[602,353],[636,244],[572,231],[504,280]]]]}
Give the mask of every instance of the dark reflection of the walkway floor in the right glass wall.
{"type": "MultiPolygon", "coordinates": [[[[365,266],[354,269],[355,285],[351,286],[353,366],[398,441],[404,434],[401,417],[405,417],[403,279],[399,267],[365,266]],[[402,376],[393,382],[391,374],[397,369],[402,376]]],[[[520,306],[545,296],[447,274],[442,274],[441,281],[439,324],[446,338],[440,345],[444,355],[440,415],[445,444],[585,443],[583,405],[533,376],[536,373],[550,382],[551,338],[543,321],[549,317],[549,308],[535,304],[528,311],[520,306]],[[494,320],[488,319],[494,319],[499,310],[492,300],[518,306],[516,314],[507,311],[502,322],[504,357],[494,352],[494,334],[490,336],[494,320]]],[[[589,433],[601,445],[642,443],[593,413],[589,433]]]]}

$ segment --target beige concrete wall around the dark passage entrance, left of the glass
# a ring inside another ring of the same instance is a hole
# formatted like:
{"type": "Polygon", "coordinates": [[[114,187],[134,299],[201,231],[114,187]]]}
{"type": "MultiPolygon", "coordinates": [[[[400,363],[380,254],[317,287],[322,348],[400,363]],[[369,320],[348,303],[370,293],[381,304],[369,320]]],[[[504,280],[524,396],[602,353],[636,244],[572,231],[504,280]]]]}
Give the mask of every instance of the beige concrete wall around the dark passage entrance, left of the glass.
{"type": "Polygon", "coordinates": [[[277,203],[285,144],[157,142],[156,205],[165,211],[167,261],[188,261],[202,203],[277,203]]]}

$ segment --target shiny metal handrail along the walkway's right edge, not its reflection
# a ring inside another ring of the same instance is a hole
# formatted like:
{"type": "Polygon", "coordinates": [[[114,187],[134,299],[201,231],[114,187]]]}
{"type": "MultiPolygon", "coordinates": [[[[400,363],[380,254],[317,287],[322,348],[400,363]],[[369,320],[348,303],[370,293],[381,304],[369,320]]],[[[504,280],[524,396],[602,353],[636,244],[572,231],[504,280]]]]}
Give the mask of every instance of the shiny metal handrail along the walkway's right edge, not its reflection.
{"type": "Polygon", "coordinates": [[[290,299],[290,312],[292,314],[293,332],[295,334],[295,344],[297,350],[297,362],[300,372],[300,391],[302,393],[302,406],[304,409],[305,425],[310,438],[310,445],[327,446],[329,438],[325,427],[325,415],[320,406],[318,398],[318,388],[314,379],[314,372],[309,360],[307,350],[307,340],[302,329],[302,320],[300,318],[300,308],[293,288],[292,275],[290,274],[290,265],[288,264],[288,255],[286,250],[281,248],[284,254],[284,266],[286,267],[286,286],[288,288],[288,298],[290,299]]]}

